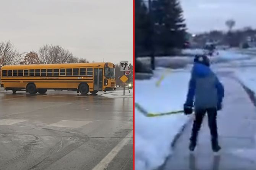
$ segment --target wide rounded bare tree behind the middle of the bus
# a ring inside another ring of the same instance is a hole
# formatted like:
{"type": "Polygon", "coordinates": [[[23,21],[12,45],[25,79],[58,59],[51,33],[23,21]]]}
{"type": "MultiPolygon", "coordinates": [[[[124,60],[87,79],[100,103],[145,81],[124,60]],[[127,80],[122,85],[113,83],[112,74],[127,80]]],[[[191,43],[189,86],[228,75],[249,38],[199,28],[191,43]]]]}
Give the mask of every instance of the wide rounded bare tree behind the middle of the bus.
{"type": "Polygon", "coordinates": [[[73,54],[59,45],[44,45],[39,49],[39,59],[43,64],[68,63],[73,54]]]}

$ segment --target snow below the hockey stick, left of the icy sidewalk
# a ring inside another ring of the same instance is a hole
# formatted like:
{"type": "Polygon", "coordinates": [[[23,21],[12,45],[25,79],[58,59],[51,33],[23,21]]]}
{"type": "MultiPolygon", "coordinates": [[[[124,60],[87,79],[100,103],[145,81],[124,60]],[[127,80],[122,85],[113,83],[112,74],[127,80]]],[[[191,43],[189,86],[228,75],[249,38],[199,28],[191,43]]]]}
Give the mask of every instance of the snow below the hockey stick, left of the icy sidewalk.
{"type": "Polygon", "coordinates": [[[149,118],[135,109],[135,170],[153,170],[164,164],[175,135],[188,119],[183,114],[149,118]]]}

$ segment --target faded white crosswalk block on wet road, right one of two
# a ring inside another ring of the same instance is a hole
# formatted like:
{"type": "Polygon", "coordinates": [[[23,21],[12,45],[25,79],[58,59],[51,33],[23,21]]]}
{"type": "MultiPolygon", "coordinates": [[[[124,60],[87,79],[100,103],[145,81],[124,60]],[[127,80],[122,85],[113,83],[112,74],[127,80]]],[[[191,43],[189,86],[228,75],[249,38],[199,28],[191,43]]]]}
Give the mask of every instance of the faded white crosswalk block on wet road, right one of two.
{"type": "Polygon", "coordinates": [[[68,121],[62,120],[53,124],[49,124],[48,126],[55,126],[55,127],[81,127],[84,126],[91,121],[68,121]]]}

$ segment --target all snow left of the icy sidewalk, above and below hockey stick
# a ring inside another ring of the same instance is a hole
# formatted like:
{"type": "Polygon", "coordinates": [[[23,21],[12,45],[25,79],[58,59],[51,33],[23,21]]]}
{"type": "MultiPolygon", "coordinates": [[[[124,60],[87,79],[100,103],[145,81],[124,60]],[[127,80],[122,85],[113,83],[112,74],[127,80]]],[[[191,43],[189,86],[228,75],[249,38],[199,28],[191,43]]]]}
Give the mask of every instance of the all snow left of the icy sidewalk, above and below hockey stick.
{"type": "MultiPolygon", "coordinates": [[[[182,110],[190,72],[158,68],[150,80],[135,80],[135,102],[150,113],[182,110]],[[157,86],[162,75],[164,79],[157,86]]],[[[159,167],[171,154],[171,143],[189,120],[184,114],[146,117],[135,109],[135,170],[159,167]]]]}

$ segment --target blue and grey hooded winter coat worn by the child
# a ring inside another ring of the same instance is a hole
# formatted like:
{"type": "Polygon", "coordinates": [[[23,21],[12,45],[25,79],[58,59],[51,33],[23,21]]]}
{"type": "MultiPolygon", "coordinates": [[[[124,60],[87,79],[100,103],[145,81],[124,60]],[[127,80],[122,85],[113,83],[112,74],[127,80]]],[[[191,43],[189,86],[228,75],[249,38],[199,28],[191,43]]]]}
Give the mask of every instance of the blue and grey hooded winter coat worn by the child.
{"type": "Polygon", "coordinates": [[[186,105],[195,109],[217,108],[224,97],[224,87],[209,67],[195,63],[191,71],[191,79],[186,105]]]}

